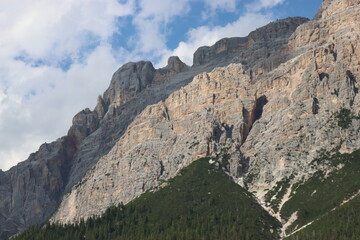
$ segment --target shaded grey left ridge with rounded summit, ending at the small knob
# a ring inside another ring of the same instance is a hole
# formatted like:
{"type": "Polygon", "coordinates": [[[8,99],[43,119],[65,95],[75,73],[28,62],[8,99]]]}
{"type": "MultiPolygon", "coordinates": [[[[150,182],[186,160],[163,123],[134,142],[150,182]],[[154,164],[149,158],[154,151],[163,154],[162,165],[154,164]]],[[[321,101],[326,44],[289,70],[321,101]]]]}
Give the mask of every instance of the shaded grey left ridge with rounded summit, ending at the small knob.
{"type": "Polygon", "coordinates": [[[158,70],[150,62],[125,64],[113,75],[94,110],[75,115],[67,136],[45,144],[46,148],[40,147],[28,160],[1,172],[0,238],[49,219],[64,193],[113,147],[138,113],[209,68],[189,70],[178,58],[170,58],[169,63],[158,70]],[[48,185],[56,185],[56,193],[48,185]],[[35,187],[41,194],[33,194],[35,187]]]}

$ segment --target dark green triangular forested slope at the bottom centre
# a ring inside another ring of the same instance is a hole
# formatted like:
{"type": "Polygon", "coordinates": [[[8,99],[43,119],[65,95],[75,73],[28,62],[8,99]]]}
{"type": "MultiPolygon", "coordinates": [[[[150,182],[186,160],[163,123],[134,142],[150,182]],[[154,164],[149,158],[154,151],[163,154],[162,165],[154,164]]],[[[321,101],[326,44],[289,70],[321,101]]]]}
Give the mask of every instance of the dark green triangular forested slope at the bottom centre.
{"type": "Polygon", "coordinates": [[[200,159],[157,191],[77,226],[32,228],[23,239],[278,239],[280,223],[222,170],[200,159]]]}

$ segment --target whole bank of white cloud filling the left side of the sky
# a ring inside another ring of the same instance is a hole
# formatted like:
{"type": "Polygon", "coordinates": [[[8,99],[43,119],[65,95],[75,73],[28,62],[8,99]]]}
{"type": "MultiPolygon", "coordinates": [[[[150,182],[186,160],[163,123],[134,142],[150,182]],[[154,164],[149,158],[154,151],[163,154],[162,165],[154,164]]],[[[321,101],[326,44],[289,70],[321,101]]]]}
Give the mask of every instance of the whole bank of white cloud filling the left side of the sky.
{"type": "Polygon", "coordinates": [[[0,2],[0,169],[64,135],[76,112],[94,106],[121,61],[108,38],[118,31],[118,17],[133,14],[134,3],[0,2]],[[64,59],[74,62],[66,72],[58,67],[64,59]],[[38,61],[46,64],[34,66],[38,61]]]}

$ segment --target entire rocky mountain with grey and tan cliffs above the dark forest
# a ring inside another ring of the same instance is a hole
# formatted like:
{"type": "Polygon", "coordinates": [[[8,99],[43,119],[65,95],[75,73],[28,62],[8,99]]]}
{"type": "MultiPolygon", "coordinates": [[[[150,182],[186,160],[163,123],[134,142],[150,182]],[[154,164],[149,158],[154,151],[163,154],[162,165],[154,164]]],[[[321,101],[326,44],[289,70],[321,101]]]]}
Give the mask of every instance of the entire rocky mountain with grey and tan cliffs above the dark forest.
{"type": "Polygon", "coordinates": [[[359,12],[359,0],[324,0],[313,20],[199,48],[191,67],[125,64],[67,136],[0,172],[0,236],[127,206],[224,152],[280,237],[326,226],[360,190],[359,12]]]}

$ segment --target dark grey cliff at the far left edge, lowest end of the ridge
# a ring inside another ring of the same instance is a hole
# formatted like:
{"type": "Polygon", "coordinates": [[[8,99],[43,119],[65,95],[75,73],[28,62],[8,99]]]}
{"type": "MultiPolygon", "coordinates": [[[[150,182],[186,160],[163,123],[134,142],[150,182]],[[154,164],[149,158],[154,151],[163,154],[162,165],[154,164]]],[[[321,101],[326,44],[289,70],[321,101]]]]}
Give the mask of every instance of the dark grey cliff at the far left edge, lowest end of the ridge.
{"type": "Polygon", "coordinates": [[[0,172],[0,223],[4,238],[51,216],[63,195],[75,152],[69,137],[43,144],[29,159],[0,172]]]}

